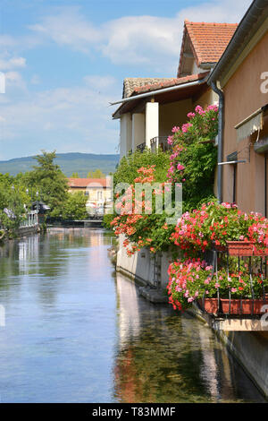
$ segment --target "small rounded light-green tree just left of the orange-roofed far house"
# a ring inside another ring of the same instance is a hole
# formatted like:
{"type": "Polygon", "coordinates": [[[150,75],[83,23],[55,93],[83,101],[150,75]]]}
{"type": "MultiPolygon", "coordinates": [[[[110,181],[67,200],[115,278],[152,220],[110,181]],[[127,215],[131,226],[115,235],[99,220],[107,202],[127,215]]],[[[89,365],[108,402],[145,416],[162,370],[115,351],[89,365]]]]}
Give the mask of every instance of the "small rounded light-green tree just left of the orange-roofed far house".
{"type": "Polygon", "coordinates": [[[63,219],[87,219],[87,196],[82,192],[68,193],[63,209],[63,219]]]}

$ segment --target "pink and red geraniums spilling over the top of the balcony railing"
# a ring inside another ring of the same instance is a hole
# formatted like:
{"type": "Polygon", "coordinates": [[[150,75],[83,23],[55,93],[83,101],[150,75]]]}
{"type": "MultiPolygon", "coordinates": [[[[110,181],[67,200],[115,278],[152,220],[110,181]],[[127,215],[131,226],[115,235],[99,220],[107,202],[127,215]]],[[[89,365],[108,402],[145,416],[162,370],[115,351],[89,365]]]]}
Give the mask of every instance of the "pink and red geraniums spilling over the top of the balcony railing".
{"type": "Polygon", "coordinates": [[[214,245],[225,246],[231,240],[252,241],[264,249],[268,244],[268,220],[258,213],[239,211],[235,204],[209,202],[185,212],[171,239],[182,250],[193,253],[205,252],[214,245]]]}

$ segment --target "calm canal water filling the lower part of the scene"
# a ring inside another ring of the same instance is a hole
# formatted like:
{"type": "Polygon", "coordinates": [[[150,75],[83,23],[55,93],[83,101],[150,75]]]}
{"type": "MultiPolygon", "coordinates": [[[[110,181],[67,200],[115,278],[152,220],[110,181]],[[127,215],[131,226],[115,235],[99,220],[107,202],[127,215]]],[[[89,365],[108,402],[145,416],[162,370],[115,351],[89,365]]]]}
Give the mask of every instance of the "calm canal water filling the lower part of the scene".
{"type": "Polygon", "coordinates": [[[212,331],[114,273],[111,241],[50,228],[0,248],[1,401],[264,401],[212,331]]]}

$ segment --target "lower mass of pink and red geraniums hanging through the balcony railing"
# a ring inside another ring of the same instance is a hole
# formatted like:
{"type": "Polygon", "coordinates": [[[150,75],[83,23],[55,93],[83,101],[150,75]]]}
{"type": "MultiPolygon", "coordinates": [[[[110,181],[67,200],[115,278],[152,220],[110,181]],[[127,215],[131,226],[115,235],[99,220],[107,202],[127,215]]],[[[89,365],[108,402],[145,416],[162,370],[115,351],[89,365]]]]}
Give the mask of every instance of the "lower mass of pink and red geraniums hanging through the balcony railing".
{"type": "Polygon", "coordinates": [[[260,268],[250,279],[247,263],[230,259],[229,271],[222,265],[216,273],[213,267],[200,259],[172,262],[169,267],[169,300],[174,308],[181,310],[197,299],[216,297],[219,291],[221,298],[263,297],[268,279],[264,279],[260,268]]]}

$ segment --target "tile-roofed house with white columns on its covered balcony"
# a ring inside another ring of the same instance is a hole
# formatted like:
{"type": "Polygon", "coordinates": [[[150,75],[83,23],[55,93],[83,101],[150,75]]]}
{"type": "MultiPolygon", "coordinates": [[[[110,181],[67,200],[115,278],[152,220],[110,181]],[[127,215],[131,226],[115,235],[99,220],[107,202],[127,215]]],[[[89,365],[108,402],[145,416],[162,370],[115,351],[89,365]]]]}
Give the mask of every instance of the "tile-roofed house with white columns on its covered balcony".
{"type": "Polygon", "coordinates": [[[207,78],[227,47],[237,24],[185,21],[180,63],[175,78],[127,78],[121,104],[113,113],[120,119],[120,155],[130,151],[168,148],[174,125],[182,125],[197,105],[207,107],[218,96],[207,78]]]}

